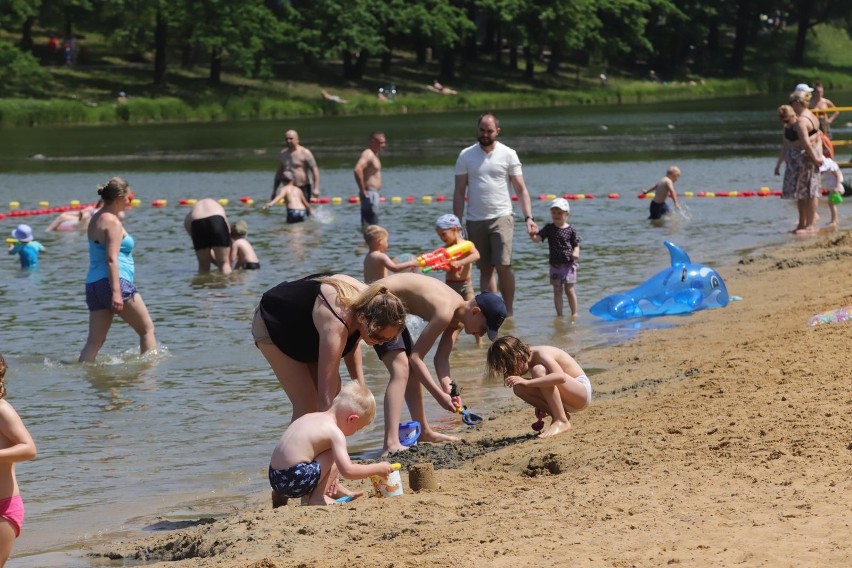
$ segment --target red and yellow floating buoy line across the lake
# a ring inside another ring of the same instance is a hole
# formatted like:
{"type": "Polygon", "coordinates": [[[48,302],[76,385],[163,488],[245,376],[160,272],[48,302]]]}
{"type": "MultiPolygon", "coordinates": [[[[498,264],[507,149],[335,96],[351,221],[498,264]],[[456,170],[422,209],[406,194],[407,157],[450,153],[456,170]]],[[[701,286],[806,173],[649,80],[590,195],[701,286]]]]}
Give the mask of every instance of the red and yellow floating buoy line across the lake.
{"type": "MultiPolygon", "coordinates": [[[[822,194],[827,195],[828,192],[823,190],[822,194]]],[[[779,197],[781,195],[781,191],[771,190],[768,187],[762,187],[757,191],[752,191],[752,190],[744,190],[744,191],[685,191],[685,192],[681,193],[680,195],[682,197],[687,197],[687,198],[690,198],[690,197],[704,197],[704,198],[713,198],[713,197],[773,197],[773,196],[779,197]]],[[[620,199],[621,195],[618,194],[618,193],[609,193],[605,196],[596,196],[592,193],[563,193],[562,195],[556,195],[554,193],[541,193],[541,194],[538,194],[537,199],[538,199],[538,201],[551,201],[553,199],[556,199],[557,197],[563,197],[563,198],[571,200],[571,201],[579,201],[579,200],[584,200],[584,199],[596,199],[598,197],[605,197],[606,199],[620,199]]],[[[653,193],[647,193],[647,194],[643,195],[643,194],[640,193],[640,194],[637,195],[637,197],[639,199],[651,199],[651,198],[654,197],[654,194],[653,193]]],[[[442,203],[442,202],[445,202],[447,200],[448,200],[448,198],[444,195],[436,195],[436,196],[423,195],[420,198],[410,196],[410,195],[408,197],[400,197],[398,195],[394,195],[394,196],[391,196],[391,197],[381,197],[381,201],[383,203],[388,202],[388,201],[390,203],[415,203],[417,201],[420,201],[421,203],[433,203],[433,202],[442,203]]],[[[512,200],[517,201],[518,196],[513,195],[512,200]]],[[[195,205],[195,203],[197,201],[198,201],[197,199],[179,199],[178,205],[185,206],[185,207],[191,207],[192,205],[195,205]]],[[[221,204],[223,207],[230,203],[230,199],[227,199],[227,198],[217,199],[216,201],[218,201],[219,204],[221,204]]],[[[345,197],[345,198],[339,197],[339,196],[334,196],[334,197],[322,196],[322,197],[314,197],[314,198],[311,199],[311,203],[314,203],[314,204],[327,204],[327,203],[329,203],[329,204],[333,204],[333,205],[339,205],[339,204],[342,204],[342,203],[360,203],[360,201],[361,200],[359,199],[358,196],[351,196],[351,197],[345,197]]],[[[240,197],[239,202],[242,203],[244,206],[247,206],[247,207],[251,207],[255,204],[255,200],[252,199],[251,197],[246,196],[246,195],[240,197]]],[[[164,207],[167,207],[168,204],[169,204],[169,202],[166,199],[154,199],[150,202],[151,207],[155,207],[155,208],[164,208],[164,207]]],[[[50,204],[47,201],[40,201],[38,203],[38,205],[39,205],[38,209],[21,209],[20,208],[21,203],[19,201],[10,201],[9,202],[9,210],[6,213],[0,213],[0,220],[4,219],[6,217],[17,218],[17,217],[28,217],[28,216],[31,216],[31,215],[49,215],[49,214],[55,214],[55,213],[62,213],[64,211],[72,211],[72,210],[83,209],[85,207],[91,207],[91,206],[94,206],[95,204],[94,203],[81,204],[79,201],[74,200],[74,201],[71,201],[68,205],[60,205],[60,206],[56,206],[56,207],[50,207],[50,204]]],[[[142,205],[141,200],[139,200],[139,199],[133,200],[133,206],[134,207],[139,207],[141,205],[142,205]]]]}

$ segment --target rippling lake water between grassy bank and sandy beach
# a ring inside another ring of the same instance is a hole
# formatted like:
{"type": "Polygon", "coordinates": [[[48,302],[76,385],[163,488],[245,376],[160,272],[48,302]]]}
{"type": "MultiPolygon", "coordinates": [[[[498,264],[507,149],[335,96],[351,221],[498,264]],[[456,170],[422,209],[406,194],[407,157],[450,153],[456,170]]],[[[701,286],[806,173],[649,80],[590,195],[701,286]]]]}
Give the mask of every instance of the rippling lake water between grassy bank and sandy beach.
{"type": "MultiPolygon", "coordinates": [[[[843,104],[842,97],[833,98],[843,104]]],[[[683,198],[684,213],[664,226],[651,225],[647,201],[636,199],[670,163],[683,171],[681,193],[778,189],[772,174],[780,138],[777,99],[741,102],[738,110],[723,102],[501,113],[502,140],[525,162],[539,220],[549,218],[540,194],[595,196],[572,201],[570,222],[583,241],[579,322],[569,325],[555,316],[546,245],[519,231],[517,315],[504,330],[533,344],[562,347],[594,372],[601,348],[643,326],[660,325],[606,323],[589,315],[588,307],[667,266],[664,240],[682,246],[693,260],[720,267],[723,277],[724,267],[743,252],[790,240],[786,231],[795,225],[795,206],[776,197],[683,198]],[[621,199],[606,198],[613,192],[621,199]]],[[[474,123],[471,113],[4,131],[0,211],[11,200],[22,209],[37,208],[42,200],[90,202],[95,185],[111,175],[129,179],[142,200],[125,222],[137,241],[136,283],[163,346],[161,354],[140,358],[136,335],[116,321],[97,364],[68,363],[76,361],[86,337],[86,240],[76,232],[44,233],[50,216],[26,218],[47,251],[34,272],[20,271],[13,258],[0,264],[2,353],[9,363],[8,398],[39,456],[18,466],[27,519],[9,565],[90,566],[79,553],[86,547],[139,534],[162,519],[225,514],[247,497],[265,494],[269,455],[290,409],[251,340],[260,295],[282,280],[320,270],[361,273],[366,248],[358,205],[346,198],[356,192],[351,166],[372,129],[383,129],[390,142],[384,155],[388,202],[381,212],[389,252],[436,248],[432,224],[452,210],[455,155],[474,142],[474,123]],[[342,204],[320,205],[313,220],[295,226],[284,223],[283,209],[262,211],[239,201],[268,196],[275,151],[289,127],[316,154],[323,193],[343,197],[342,204]],[[26,159],[36,153],[48,159],[26,159]],[[393,196],[402,203],[391,203],[393,196]],[[260,271],[227,278],[195,274],[182,226],[186,211],[178,201],[202,197],[230,200],[229,218],[248,223],[260,271]],[[168,206],[151,207],[154,199],[167,199],[168,206]]],[[[843,127],[837,130],[844,136],[843,127]]],[[[843,206],[841,217],[848,227],[843,206]]],[[[15,223],[0,221],[0,230],[8,233],[15,223]]],[[[510,393],[483,384],[483,361],[484,351],[463,337],[453,354],[454,376],[466,403],[487,415],[510,393]]],[[[372,350],[365,350],[365,368],[381,401],[387,374],[372,350]]],[[[437,424],[456,426],[433,401],[427,407],[437,424]]],[[[374,456],[381,424],[379,416],[354,436],[351,450],[374,456]]]]}

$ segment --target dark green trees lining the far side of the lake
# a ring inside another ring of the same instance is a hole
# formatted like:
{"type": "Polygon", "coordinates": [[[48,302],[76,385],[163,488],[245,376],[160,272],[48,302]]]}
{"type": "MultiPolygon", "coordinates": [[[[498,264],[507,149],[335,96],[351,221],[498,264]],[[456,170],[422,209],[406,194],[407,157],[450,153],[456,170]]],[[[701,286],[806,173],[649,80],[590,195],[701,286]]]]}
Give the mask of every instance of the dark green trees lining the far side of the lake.
{"type": "Polygon", "coordinates": [[[391,73],[401,51],[421,64],[437,61],[442,81],[489,60],[529,81],[537,72],[590,61],[637,74],[737,76],[760,34],[795,29],[792,51],[775,55],[801,65],[808,30],[829,21],[852,27],[852,2],[0,0],[0,28],[19,38],[17,53],[0,46],[0,71],[7,75],[0,95],[37,91],[39,59],[29,54],[44,47],[36,30],[60,39],[101,34],[117,53],[151,61],[151,82],[162,87],[175,65],[205,65],[216,86],[225,67],[272,79],[281,61],[340,61],[340,76],[357,81],[371,59],[391,73]]]}

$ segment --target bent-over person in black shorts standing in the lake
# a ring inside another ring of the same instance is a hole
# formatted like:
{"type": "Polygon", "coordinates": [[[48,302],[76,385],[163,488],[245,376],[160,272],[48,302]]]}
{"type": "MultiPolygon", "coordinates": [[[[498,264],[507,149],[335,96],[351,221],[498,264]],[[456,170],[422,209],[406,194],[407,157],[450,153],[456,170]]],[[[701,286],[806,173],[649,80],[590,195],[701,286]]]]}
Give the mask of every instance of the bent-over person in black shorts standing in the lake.
{"type": "Polygon", "coordinates": [[[186,214],[183,226],[192,238],[198,272],[210,272],[212,260],[222,274],[230,274],[231,227],[225,209],[209,197],[201,199],[186,214]]]}

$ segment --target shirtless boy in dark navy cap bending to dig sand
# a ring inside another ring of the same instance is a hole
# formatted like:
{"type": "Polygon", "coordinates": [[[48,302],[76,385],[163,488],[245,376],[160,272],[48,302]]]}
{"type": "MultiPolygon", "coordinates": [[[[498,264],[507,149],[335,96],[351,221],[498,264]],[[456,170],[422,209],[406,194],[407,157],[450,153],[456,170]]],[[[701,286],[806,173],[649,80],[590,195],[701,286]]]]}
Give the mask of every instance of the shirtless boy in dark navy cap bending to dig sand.
{"type": "Polygon", "coordinates": [[[377,283],[387,286],[388,291],[405,302],[408,313],[426,321],[426,327],[413,345],[408,330],[403,329],[396,340],[375,347],[376,354],[390,371],[385,391],[383,453],[404,449],[399,441],[403,399],[411,418],[423,428],[420,441],[455,442],[458,438],[436,432],[427,423],[421,385],[445,410],[456,412],[461,408],[461,398],[450,394],[455,384],[450,375],[450,352],[462,330],[475,337],[488,333],[492,341],[496,339],[497,330],[506,319],[506,304],[491,292],[464,300],[440,280],[422,274],[391,274],[377,283]],[[434,358],[437,381],[424,360],[435,341],[438,341],[434,358]],[[409,374],[416,380],[409,380],[409,374]]]}

